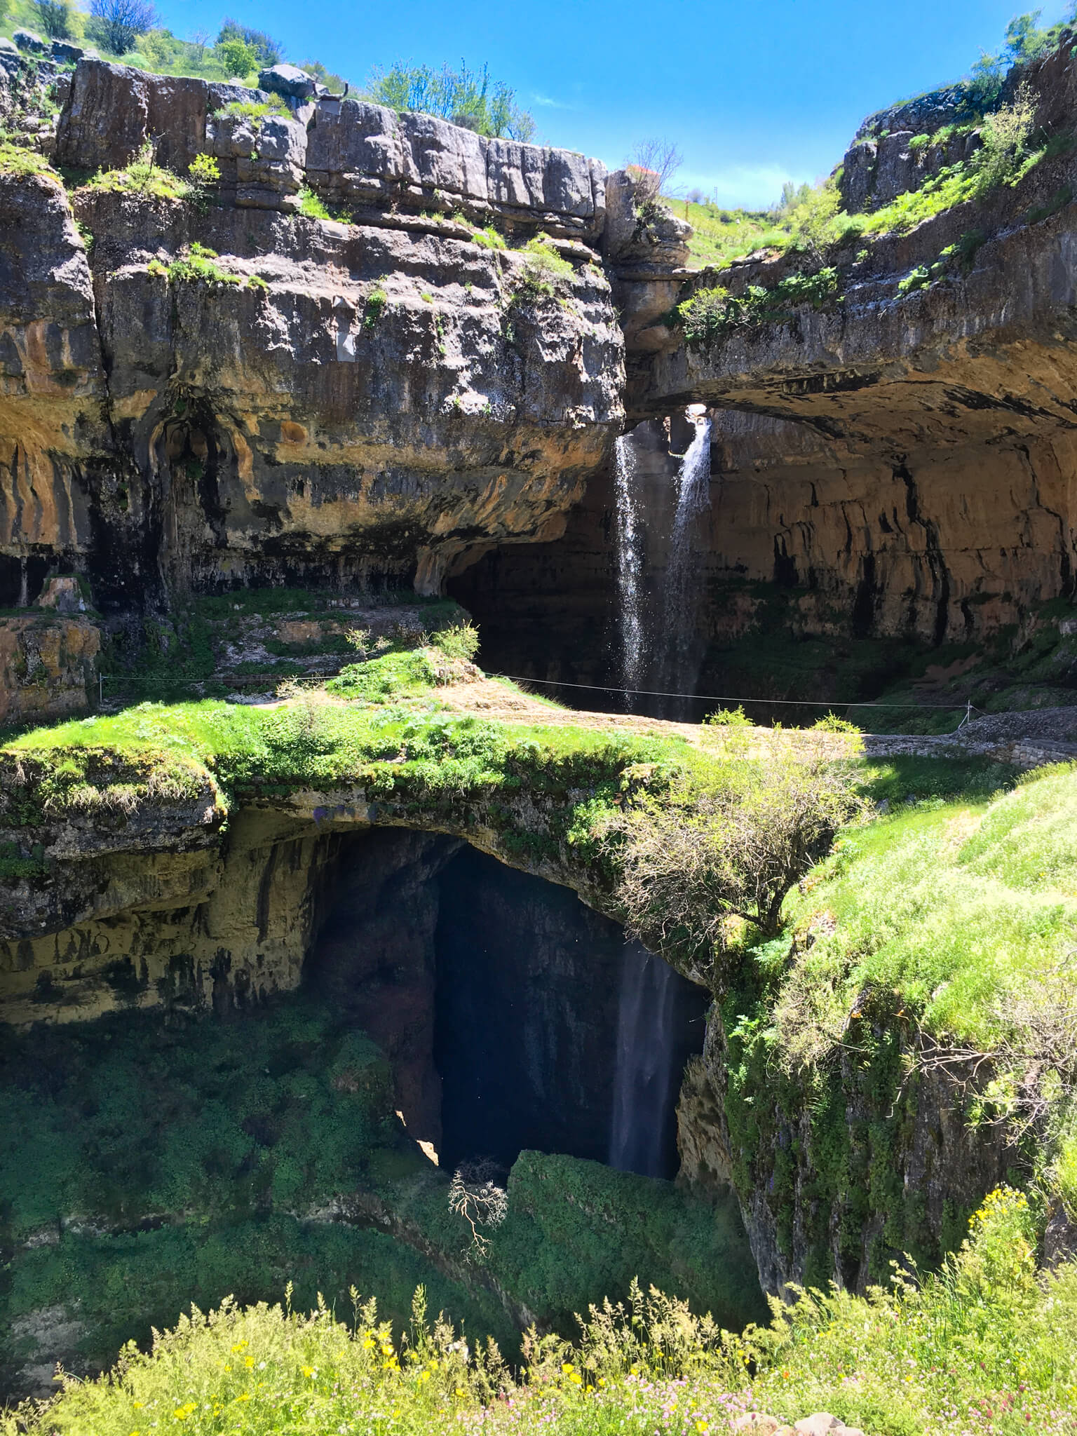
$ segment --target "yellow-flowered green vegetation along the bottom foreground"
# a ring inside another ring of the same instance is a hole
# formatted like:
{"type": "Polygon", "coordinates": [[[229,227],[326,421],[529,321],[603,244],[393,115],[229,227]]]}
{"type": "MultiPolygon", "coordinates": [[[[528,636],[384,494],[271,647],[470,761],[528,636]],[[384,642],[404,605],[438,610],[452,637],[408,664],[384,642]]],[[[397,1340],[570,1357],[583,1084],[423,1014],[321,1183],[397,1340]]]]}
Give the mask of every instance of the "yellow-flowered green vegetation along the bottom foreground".
{"type": "Polygon", "coordinates": [[[626,1305],[592,1305],[573,1346],[527,1333],[518,1374],[480,1333],[431,1320],[422,1290],[404,1330],[358,1294],[348,1323],[322,1305],[297,1315],[290,1301],[225,1302],[6,1426],[11,1436],[449,1426],[711,1436],[751,1410],[787,1420],[829,1410],[875,1436],[1073,1432],[1077,1267],[1040,1274],[1034,1241],[1027,1200],[1002,1189],[935,1275],[903,1272],[867,1298],[808,1292],[740,1335],[633,1288],[626,1305]]]}

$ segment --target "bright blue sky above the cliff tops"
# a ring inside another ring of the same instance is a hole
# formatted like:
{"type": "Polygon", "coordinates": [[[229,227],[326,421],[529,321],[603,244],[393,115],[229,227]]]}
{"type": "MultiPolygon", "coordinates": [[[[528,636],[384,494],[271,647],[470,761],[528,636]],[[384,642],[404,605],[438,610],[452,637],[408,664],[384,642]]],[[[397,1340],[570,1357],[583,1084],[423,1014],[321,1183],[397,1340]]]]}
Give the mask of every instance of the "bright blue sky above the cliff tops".
{"type": "MultiPolygon", "coordinates": [[[[538,139],[610,168],[651,136],[684,154],[681,188],[767,205],[816,180],[864,115],[965,73],[997,49],[1014,0],[159,0],[187,37],[224,14],[356,83],[396,59],[490,65],[538,139]]],[[[1044,4],[1043,20],[1061,17],[1044,4]]]]}

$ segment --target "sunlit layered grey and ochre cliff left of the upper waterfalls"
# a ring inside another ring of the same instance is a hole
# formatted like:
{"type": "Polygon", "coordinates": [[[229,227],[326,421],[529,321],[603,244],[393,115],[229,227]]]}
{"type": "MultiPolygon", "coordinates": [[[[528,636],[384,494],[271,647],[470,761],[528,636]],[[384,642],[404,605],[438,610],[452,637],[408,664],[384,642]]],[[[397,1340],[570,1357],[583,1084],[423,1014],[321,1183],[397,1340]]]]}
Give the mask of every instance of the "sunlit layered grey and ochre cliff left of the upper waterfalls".
{"type": "Polygon", "coordinates": [[[57,563],[106,610],[243,582],[437,592],[491,544],[554,537],[620,424],[592,251],[557,241],[574,270],[554,296],[527,254],[382,213],[437,187],[593,237],[603,171],[352,102],[257,131],[208,118],[238,95],[79,65],[63,164],[121,165],[154,135],[164,164],[208,149],[221,167],[207,210],[80,191],[89,253],[53,181],[0,177],[7,602],[57,563]],[[379,205],[372,223],[281,218],[314,178],[379,205]],[[159,273],[194,244],[218,279],[159,273]]]}

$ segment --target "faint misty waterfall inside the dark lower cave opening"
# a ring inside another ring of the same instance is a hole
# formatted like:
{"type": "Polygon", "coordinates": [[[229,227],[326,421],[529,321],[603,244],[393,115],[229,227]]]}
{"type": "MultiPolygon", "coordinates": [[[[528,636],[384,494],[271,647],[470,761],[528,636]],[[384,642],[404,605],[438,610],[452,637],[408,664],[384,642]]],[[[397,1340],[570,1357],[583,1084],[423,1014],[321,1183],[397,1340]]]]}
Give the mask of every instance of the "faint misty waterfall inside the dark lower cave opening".
{"type": "Polygon", "coordinates": [[[666,1176],[675,1064],[673,969],[639,943],[625,949],[613,1070],[609,1165],[666,1176]]]}

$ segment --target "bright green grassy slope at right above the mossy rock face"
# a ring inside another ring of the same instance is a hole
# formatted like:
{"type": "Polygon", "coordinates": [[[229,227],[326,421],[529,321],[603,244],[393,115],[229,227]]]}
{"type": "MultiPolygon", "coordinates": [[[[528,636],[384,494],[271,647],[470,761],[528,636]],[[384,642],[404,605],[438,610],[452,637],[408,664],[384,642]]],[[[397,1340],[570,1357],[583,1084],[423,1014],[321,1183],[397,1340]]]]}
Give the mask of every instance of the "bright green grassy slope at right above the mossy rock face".
{"type": "Polygon", "coordinates": [[[991,1051],[1011,1037],[1014,1004],[1050,984],[1073,942],[1074,823],[1077,768],[1066,767],[997,797],[936,797],[839,839],[787,908],[796,929],[826,913],[833,931],[800,943],[778,987],[783,1060],[826,1061],[847,1024],[857,1032],[850,1014],[876,1020],[879,994],[939,1041],[991,1051]]]}

